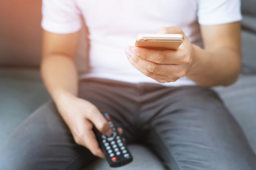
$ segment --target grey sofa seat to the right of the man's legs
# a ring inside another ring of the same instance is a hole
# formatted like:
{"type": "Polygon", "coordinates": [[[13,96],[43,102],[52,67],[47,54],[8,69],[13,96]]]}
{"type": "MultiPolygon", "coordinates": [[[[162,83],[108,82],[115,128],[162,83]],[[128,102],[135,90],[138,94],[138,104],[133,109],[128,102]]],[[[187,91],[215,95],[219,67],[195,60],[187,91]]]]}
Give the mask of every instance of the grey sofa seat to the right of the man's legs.
{"type": "Polygon", "coordinates": [[[235,84],[214,89],[240,124],[256,153],[256,75],[241,75],[235,84]]]}

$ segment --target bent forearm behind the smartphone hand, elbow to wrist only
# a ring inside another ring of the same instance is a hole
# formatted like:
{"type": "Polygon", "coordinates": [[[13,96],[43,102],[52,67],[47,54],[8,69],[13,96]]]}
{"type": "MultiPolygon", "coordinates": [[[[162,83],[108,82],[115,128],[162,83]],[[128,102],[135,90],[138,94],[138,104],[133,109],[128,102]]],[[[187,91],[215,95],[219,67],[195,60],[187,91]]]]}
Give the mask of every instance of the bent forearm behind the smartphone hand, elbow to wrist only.
{"type": "MultiPolygon", "coordinates": [[[[230,85],[240,71],[240,53],[230,48],[204,50],[193,46],[194,63],[187,78],[201,86],[230,85]]],[[[193,61],[192,61],[193,62],[193,61]]]]}

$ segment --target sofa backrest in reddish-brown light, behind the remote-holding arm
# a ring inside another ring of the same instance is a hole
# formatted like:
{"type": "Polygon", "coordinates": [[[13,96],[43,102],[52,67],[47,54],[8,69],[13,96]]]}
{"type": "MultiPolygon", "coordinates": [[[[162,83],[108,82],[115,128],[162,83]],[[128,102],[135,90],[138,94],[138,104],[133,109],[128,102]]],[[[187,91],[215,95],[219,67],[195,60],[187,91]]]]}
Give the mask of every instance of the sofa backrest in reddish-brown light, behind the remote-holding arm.
{"type": "MultiPolygon", "coordinates": [[[[0,66],[39,66],[41,17],[41,0],[0,0],[0,66]]],[[[76,55],[80,71],[86,68],[84,32],[76,55]]]]}

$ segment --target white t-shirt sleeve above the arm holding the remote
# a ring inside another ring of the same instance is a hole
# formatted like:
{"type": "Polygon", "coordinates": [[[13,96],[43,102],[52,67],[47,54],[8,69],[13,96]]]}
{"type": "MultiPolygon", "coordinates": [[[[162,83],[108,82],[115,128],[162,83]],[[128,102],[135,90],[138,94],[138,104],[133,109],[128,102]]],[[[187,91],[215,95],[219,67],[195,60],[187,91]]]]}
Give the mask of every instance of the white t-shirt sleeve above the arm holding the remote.
{"type": "Polygon", "coordinates": [[[42,0],[41,26],[52,33],[74,33],[81,29],[81,13],[74,0],[42,0]]]}

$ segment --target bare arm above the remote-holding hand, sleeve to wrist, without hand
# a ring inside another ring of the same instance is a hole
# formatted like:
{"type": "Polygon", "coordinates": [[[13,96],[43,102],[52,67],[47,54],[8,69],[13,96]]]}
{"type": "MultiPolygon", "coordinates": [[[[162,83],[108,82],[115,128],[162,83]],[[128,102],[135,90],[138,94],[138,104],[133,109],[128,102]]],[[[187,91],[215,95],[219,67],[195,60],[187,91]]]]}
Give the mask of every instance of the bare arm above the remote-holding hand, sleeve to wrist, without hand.
{"type": "Polygon", "coordinates": [[[74,63],[79,32],[54,34],[43,31],[41,74],[54,102],[63,93],[77,96],[78,74],[74,63]]]}

